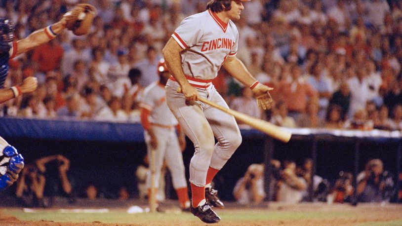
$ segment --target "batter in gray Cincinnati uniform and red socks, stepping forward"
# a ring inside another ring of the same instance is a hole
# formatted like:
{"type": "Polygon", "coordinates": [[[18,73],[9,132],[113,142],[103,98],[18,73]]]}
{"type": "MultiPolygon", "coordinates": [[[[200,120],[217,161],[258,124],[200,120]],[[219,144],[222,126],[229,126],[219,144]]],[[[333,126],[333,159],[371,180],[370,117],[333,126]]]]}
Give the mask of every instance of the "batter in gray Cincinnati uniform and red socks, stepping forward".
{"type": "Polygon", "coordinates": [[[195,147],[190,211],[205,223],[220,221],[211,207],[224,205],[211,182],[240,146],[241,134],[232,115],[198,99],[229,108],[211,83],[223,66],[251,88],[261,108],[269,109],[272,103],[268,91],[273,88],[259,83],[236,57],[239,33],[232,20],[240,19],[243,1],[209,0],[206,11],[185,18],[162,50],[172,74],[165,87],[167,105],[195,147]]]}

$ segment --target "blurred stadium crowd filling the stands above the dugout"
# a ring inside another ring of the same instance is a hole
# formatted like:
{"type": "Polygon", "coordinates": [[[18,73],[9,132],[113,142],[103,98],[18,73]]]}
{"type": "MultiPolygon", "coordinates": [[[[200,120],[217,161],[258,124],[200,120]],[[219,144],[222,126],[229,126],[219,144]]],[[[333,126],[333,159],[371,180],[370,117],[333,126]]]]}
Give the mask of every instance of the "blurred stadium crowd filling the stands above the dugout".
{"type": "MultiPolygon", "coordinates": [[[[144,87],[158,79],[161,48],[199,0],[1,0],[16,38],[57,21],[78,2],[96,6],[86,36],[65,31],[10,61],[5,86],[36,76],[31,95],[3,104],[8,117],[139,121],[144,87]]],[[[402,2],[253,0],[241,20],[238,57],[275,87],[260,112],[227,76],[214,80],[229,105],[282,126],[402,129],[402,2]]]]}

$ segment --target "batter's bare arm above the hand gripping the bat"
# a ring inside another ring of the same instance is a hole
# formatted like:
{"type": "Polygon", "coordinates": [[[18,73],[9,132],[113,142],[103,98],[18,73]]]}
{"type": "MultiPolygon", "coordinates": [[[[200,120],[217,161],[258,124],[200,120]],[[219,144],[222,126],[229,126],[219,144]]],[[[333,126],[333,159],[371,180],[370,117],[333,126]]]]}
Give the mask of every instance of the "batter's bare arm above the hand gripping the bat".
{"type": "Polygon", "coordinates": [[[180,86],[190,85],[181,66],[180,52],[182,50],[183,49],[173,38],[169,39],[162,50],[166,66],[169,69],[170,74],[176,79],[180,86]]]}

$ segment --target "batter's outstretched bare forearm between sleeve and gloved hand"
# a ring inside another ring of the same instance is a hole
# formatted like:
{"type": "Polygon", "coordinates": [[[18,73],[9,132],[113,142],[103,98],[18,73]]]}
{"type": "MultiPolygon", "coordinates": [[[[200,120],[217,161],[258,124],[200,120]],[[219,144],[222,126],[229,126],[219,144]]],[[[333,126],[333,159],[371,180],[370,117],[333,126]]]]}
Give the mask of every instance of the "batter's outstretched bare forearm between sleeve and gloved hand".
{"type": "Polygon", "coordinates": [[[222,66],[246,87],[250,87],[257,80],[248,72],[243,62],[236,57],[228,57],[222,66]]]}

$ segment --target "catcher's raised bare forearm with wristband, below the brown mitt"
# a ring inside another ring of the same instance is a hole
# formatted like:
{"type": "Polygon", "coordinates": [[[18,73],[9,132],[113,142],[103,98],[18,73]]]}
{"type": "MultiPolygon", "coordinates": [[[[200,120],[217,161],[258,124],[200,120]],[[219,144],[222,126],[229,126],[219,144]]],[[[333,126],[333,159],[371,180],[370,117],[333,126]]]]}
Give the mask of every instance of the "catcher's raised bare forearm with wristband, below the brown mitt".
{"type": "Polygon", "coordinates": [[[66,19],[63,17],[59,22],[39,29],[27,38],[17,41],[17,54],[25,53],[41,44],[44,44],[60,34],[66,28],[66,19]]]}

